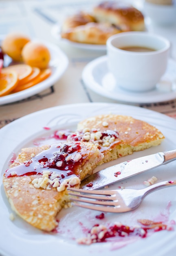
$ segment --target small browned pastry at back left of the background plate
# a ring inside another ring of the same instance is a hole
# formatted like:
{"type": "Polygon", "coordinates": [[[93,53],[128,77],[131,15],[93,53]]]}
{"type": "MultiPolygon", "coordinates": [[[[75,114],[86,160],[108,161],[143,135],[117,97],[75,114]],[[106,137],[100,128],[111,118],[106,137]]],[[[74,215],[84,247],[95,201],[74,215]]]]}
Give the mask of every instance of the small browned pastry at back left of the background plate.
{"type": "Polygon", "coordinates": [[[78,13],[67,17],[62,25],[62,32],[66,32],[71,28],[85,25],[88,22],[95,22],[95,18],[85,11],[79,11],[78,13]]]}

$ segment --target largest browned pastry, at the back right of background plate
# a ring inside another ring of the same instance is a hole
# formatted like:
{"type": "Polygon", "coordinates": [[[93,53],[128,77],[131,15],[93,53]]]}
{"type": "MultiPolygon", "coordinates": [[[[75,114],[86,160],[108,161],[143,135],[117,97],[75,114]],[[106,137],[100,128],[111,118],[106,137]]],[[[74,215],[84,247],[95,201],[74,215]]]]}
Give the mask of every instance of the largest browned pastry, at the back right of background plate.
{"type": "Polygon", "coordinates": [[[92,15],[97,22],[126,25],[131,31],[145,30],[144,16],[135,7],[124,1],[104,1],[94,7],[92,15]]]}

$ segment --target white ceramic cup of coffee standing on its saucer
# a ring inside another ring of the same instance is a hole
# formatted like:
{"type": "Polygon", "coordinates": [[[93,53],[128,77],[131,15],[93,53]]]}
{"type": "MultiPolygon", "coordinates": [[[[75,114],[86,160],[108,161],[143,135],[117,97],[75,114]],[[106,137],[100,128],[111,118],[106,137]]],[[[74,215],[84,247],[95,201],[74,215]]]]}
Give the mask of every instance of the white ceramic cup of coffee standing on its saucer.
{"type": "Polygon", "coordinates": [[[123,32],[107,40],[108,69],[116,86],[144,92],[153,90],[166,71],[170,43],[149,32],[123,32]],[[132,52],[123,47],[146,47],[151,52],[132,52]]]}

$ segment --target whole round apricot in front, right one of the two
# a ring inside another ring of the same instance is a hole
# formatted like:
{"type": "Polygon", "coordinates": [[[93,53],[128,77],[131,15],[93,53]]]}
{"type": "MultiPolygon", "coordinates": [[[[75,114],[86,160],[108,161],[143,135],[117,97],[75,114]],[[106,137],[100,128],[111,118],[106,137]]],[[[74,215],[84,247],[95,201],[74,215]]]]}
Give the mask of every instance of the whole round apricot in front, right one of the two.
{"type": "Polygon", "coordinates": [[[46,69],[50,61],[50,52],[42,43],[29,42],[22,49],[22,58],[24,63],[31,67],[46,69]]]}

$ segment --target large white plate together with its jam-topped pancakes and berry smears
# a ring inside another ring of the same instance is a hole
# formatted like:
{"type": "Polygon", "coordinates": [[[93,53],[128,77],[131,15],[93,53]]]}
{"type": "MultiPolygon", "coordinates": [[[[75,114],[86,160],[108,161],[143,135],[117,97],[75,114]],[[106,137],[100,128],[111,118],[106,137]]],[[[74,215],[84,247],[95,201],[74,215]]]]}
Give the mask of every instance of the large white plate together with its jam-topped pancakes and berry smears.
{"type": "MultiPolygon", "coordinates": [[[[78,256],[148,256],[163,250],[172,255],[174,186],[117,214],[77,207],[67,189],[79,188],[87,175],[108,166],[175,149],[175,126],[175,119],[144,108],[81,103],[34,112],[1,128],[0,254],[48,256],[59,248],[78,256]]],[[[174,162],[109,189],[142,189],[147,180],[168,179],[176,180],[174,162]]]]}

